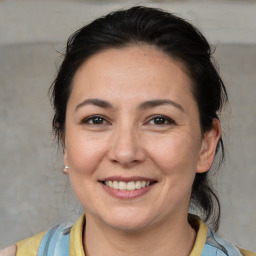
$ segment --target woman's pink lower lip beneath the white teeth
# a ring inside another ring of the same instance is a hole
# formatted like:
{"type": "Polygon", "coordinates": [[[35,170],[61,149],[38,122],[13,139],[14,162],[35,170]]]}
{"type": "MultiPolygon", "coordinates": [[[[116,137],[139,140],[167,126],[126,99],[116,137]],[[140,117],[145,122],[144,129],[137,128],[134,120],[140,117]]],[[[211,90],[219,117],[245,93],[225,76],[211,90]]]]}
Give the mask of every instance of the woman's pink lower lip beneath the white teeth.
{"type": "Polygon", "coordinates": [[[140,197],[140,196],[146,194],[147,192],[149,192],[153,188],[155,183],[153,183],[147,187],[135,189],[135,190],[119,190],[119,189],[114,189],[114,188],[108,187],[108,186],[104,185],[103,183],[101,183],[101,185],[102,185],[103,189],[111,196],[114,196],[119,199],[133,199],[133,198],[140,197]]]}

